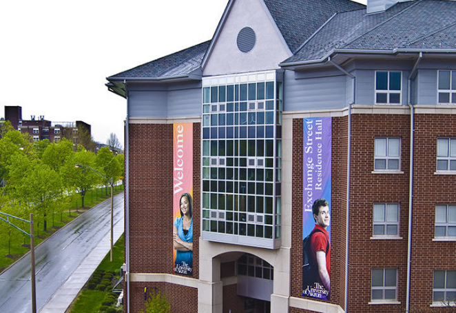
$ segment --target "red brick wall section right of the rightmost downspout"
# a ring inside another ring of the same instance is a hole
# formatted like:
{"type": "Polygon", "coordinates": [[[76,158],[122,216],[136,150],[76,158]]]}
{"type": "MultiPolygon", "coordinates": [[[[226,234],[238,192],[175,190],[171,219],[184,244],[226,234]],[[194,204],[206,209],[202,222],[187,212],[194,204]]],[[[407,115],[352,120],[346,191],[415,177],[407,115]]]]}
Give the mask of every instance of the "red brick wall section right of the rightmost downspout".
{"type": "Polygon", "coordinates": [[[434,174],[437,137],[456,137],[456,115],[415,114],[411,312],[429,310],[434,270],[456,270],[455,241],[433,241],[435,205],[456,203],[456,176],[434,174]]]}

